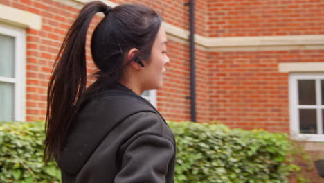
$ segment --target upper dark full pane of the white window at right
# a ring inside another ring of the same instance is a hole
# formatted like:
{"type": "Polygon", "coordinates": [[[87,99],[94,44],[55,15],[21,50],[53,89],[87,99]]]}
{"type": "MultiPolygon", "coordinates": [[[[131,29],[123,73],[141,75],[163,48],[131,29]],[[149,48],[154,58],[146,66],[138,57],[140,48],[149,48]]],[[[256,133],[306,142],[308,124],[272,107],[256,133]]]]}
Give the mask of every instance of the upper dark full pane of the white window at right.
{"type": "Polygon", "coordinates": [[[298,80],[299,105],[316,105],[315,80],[298,80]]]}

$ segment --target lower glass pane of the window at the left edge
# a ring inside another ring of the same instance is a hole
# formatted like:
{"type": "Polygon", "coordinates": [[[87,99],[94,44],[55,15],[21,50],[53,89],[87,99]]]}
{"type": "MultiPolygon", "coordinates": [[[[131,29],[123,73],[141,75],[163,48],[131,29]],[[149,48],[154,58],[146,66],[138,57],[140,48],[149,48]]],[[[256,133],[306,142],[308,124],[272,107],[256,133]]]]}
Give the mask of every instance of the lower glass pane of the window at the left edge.
{"type": "Polygon", "coordinates": [[[0,121],[14,121],[15,84],[0,82],[0,121]]]}

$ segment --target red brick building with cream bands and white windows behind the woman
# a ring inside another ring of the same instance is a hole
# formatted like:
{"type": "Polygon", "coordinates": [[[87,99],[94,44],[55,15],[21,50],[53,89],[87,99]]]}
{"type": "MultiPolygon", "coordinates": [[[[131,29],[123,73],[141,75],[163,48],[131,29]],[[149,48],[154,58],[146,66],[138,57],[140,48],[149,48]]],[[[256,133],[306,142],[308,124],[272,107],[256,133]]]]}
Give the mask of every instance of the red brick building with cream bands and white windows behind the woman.
{"type": "MultiPolygon", "coordinates": [[[[87,1],[0,0],[0,120],[44,119],[55,56],[87,1]]],[[[105,2],[141,3],[162,15],[171,62],[163,89],[144,95],[166,119],[189,121],[187,1],[105,2]]],[[[324,141],[323,0],[196,0],[195,22],[198,122],[324,141]]]]}

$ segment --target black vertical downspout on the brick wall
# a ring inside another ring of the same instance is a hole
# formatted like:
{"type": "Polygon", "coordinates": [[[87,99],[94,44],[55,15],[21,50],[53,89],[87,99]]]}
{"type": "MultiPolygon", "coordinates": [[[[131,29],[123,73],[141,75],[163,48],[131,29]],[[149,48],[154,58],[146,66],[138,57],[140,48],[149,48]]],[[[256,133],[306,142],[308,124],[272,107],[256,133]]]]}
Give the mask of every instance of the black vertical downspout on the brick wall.
{"type": "Polygon", "coordinates": [[[190,26],[190,107],[191,121],[196,122],[196,78],[195,78],[195,0],[190,0],[189,3],[189,26],[190,26]]]}

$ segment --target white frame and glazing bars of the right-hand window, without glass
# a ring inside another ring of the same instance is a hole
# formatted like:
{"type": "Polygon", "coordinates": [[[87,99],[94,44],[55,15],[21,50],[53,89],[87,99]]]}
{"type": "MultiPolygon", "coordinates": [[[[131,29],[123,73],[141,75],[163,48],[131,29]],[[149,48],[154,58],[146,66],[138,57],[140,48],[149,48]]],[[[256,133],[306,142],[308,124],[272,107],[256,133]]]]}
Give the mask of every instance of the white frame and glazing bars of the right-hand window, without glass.
{"type": "Polygon", "coordinates": [[[291,139],[300,141],[324,141],[322,112],[324,105],[321,105],[321,80],[324,80],[324,73],[290,73],[289,74],[289,110],[291,139]],[[298,105],[298,80],[315,80],[316,105],[298,105]],[[320,105],[318,105],[320,104],[320,105]],[[317,133],[300,134],[299,109],[316,109],[317,133]]]}

